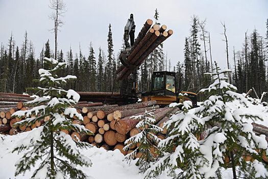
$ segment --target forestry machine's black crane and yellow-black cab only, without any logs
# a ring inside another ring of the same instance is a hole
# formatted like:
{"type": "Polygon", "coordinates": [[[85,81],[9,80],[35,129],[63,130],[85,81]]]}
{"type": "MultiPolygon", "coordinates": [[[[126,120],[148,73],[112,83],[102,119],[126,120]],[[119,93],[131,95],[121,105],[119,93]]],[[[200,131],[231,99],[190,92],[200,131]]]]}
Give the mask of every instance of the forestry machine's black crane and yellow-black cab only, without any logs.
{"type": "MultiPolygon", "coordinates": [[[[128,98],[137,97],[137,68],[138,66],[133,66],[128,62],[128,54],[131,47],[134,44],[134,32],[135,24],[133,19],[133,14],[130,15],[128,22],[125,26],[124,41],[125,41],[125,50],[120,53],[120,61],[124,66],[130,67],[132,69],[132,74],[121,81],[120,85],[120,95],[128,98]],[[129,43],[130,39],[130,43],[129,43]]],[[[197,106],[197,94],[191,92],[182,92],[180,91],[180,81],[179,86],[177,86],[177,76],[175,72],[153,72],[151,90],[148,92],[141,93],[142,101],[156,100],[157,104],[160,106],[165,106],[173,102],[180,102],[185,100],[192,101],[193,106],[197,106]],[[178,97],[179,93],[187,94],[186,97],[178,97]]]]}

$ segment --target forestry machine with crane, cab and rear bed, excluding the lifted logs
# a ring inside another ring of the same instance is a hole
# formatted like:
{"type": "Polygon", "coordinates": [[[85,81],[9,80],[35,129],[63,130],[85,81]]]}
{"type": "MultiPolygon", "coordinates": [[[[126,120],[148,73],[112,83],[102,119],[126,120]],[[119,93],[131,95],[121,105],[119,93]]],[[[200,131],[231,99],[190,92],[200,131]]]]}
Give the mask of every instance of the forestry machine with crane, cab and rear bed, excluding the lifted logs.
{"type": "MultiPolygon", "coordinates": [[[[177,76],[176,73],[174,72],[167,72],[167,71],[153,72],[150,91],[138,94],[137,70],[142,62],[138,65],[135,65],[131,64],[128,61],[128,57],[132,53],[131,48],[135,43],[134,33],[135,33],[135,23],[133,14],[131,14],[130,18],[127,21],[124,31],[125,49],[120,53],[120,61],[123,64],[123,66],[121,67],[123,68],[127,67],[129,73],[126,73],[127,75],[124,76],[123,80],[120,80],[120,93],[113,92],[114,91],[114,85],[113,85],[112,93],[95,92],[90,93],[91,96],[88,96],[86,95],[86,93],[80,92],[79,93],[81,96],[80,100],[81,101],[90,100],[92,102],[103,102],[110,104],[113,103],[121,105],[121,104],[135,103],[138,101],[138,96],[140,96],[142,98],[142,101],[156,100],[157,104],[159,104],[160,106],[166,106],[173,102],[181,102],[185,100],[192,101],[193,107],[197,106],[197,94],[191,92],[182,92],[180,90],[181,85],[178,86],[176,84],[177,76]],[[186,95],[187,97],[185,96],[179,97],[179,93],[187,94],[186,95]]],[[[155,49],[157,46],[152,47],[154,47],[155,49]]],[[[144,47],[142,46],[141,49],[142,48],[144,47]]],[[[144,54],[146,52],[149,51],[145,50],[144,54]]],[[[115,78],[113,81],[115,81],[115,78]]],[[[181,80],[179,80],[179,84],[180,81],[181,80]]]]}

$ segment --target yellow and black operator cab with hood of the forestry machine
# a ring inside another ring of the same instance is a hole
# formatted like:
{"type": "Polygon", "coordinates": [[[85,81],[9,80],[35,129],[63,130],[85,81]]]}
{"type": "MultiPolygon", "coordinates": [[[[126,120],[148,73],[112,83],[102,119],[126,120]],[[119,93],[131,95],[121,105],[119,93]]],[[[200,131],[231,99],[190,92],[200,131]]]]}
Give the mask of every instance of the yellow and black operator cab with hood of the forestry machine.
{"type": "Polygon", "coordinates": [[[182,100],[190,100],[193,106],[197,103],[197,94],[187,93],[187,97],[178,98],[179,90],[176,84],[175,72],[153,72],[151,91],[141,93],[142,101],[156,100],[160,106],[166,106],[173,102],[181,102],[182,100]]]}

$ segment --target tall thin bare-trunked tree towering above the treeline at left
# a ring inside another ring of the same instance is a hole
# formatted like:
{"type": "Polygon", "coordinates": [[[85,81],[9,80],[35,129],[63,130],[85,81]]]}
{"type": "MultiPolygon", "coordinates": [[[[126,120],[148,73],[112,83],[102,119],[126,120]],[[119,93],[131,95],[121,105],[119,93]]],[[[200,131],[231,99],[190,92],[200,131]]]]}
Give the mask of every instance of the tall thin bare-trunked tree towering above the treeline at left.
{"type": "Polygon", "coordinates": [[[61,17],[66,12],[66,5],[62,0],[51,0],[49,7],[55,10],[49,17],[50,19],[54,20],[54,28],[52,31],[55,35],[55,59],[57,59],[57,37],[58,31],[60,31],[59,28],[63,25],[61,17]]]}

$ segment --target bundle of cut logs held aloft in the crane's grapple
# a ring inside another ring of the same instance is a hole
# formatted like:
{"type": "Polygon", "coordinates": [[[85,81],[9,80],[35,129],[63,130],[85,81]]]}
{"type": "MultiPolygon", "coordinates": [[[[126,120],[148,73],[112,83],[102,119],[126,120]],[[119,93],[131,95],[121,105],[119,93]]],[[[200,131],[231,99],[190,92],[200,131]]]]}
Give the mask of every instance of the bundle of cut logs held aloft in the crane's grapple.
{"type": "Polygon", "coordinates": [[[143,25],[133,46],[128,52],[127,62],[129,66],[122,65],[116,71],[116,74],[118,74],[117,81],[127,78],[160,43],[173,34],[173,30],[166,31],[165,25],[160,27],[158,24],[153,26],[152,24],[153,20],[148,19],[143,25]]]}

